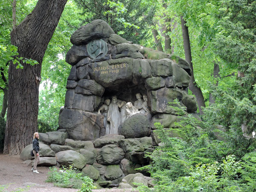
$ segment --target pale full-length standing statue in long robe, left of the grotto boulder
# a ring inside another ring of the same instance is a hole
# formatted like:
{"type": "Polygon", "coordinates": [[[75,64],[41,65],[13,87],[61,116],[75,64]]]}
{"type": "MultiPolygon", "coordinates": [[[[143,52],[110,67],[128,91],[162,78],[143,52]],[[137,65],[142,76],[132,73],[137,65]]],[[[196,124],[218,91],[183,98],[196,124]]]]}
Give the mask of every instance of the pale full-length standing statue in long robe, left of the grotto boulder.
{"type": "Polygon", "coordinates": [[[118,134],[118,127],[120,125],[120,112],[121,105],[117,102],[116,96],[112,97],[111,103],[108,107],[108,121],[110,122],[109,134],[118,134]]]}

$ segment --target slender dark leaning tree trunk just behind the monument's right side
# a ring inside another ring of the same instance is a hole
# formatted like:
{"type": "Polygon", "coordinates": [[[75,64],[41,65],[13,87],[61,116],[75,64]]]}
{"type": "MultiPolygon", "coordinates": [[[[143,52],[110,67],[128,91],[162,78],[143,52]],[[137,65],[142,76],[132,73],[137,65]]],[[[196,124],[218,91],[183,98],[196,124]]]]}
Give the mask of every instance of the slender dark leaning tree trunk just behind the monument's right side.
{"type": "Polygon", "coordinates": [[[189,82],[189,90],[195,95],[196,101],[198,103],[199,113],[203,114],[202,107],[205,107],[204,103],[204,96],[200,89],[195,82],[194,77],[194,70],[192,64],[192,56],[191,56],[191,49],[190,49],[190,40],[189,40],[189,29],[186,26],[186,21],[183,19],[183,16],[180,16],[181,20],[181,27],[182,27],[182,37],[183,37],[183,46],[185,51],[185,59],[189,63],[191,68],[191,78],[189,82]]]}

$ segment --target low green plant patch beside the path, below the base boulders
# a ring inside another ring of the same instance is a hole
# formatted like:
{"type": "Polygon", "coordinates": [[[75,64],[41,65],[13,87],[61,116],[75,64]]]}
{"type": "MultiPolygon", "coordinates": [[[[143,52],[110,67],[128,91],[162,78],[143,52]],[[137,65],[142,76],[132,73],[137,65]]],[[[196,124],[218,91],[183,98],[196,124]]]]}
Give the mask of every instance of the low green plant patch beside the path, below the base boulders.
{"type": "Polygon", "coordinates": [[[68,168],[63,166],[60,170],[56,167],[51,167],[46,182],[51,182],[55,186],[63,188],[81,188],[81,192],[90,192],[91,189],[96,189],[93,185],[93,180],[77,172],[73,164],[68,168]]]}

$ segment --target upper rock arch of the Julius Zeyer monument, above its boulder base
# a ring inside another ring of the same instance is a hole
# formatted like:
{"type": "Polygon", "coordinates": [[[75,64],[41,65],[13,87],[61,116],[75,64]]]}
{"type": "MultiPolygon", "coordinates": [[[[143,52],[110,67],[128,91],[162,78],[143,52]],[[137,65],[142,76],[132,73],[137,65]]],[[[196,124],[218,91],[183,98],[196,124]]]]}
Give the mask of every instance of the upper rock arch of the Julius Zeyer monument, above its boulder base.
{"type": "Polygon", "coordinates": [[[151,129],[156,121],[176,120],[168,104],[174,99],[188,112],[196,111],[195,98],[187,94],[190,68],[183,59],[132,44],[103,20],[80,27],[70,41],[66,62],[72,68],[59,116],[59,128],[66,129],[70,139],[120,134],[128,120],[128,102],[147,116],[151,129]],[[106,99],[111,102],[104,104],[106,99]]]}

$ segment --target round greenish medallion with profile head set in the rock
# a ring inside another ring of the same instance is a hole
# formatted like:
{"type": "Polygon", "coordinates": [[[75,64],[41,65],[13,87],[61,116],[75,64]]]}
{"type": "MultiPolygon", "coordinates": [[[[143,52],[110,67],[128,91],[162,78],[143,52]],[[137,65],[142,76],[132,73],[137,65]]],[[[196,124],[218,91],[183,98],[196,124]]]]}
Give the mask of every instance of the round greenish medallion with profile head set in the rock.
{"type": "Polygon", "coordinates": [[[95,39],[87,45],[87,52],[91,58],[102,58],[108,52],[108,46],[102,39],[95,39]]]}

